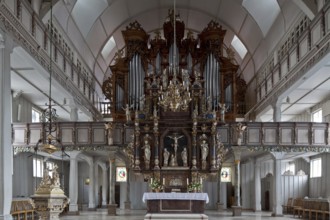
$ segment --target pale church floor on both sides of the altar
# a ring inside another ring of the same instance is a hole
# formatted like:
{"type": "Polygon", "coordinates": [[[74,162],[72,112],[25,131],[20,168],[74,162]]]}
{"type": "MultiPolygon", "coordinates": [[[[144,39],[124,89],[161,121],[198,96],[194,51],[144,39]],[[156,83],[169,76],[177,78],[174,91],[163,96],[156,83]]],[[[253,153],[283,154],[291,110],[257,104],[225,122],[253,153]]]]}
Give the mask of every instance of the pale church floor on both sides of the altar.
{"type": "MultiPolygon", "coordinates": [[[[117,216],[108,216],[106,211],[81,211],[79,216],[61,216],[62,220],[143,220],[146,214],[145,210],[117,210],[117,216]]],[[[255,220],[255,219],[271,219],[271,220],[285,220],[285,219],[295,219],[292,215],[284,215],[283,217],[271,217],[271,212],[249,212],[245,211],[242,216],[233,217],[230,211],[217,212],[207,210],[205,212],[208,215],[209,220],[216,219],[244,219],[244,220],[255,220]]],[[[297,217],[296,217],[297,219],[297,217]]]]}

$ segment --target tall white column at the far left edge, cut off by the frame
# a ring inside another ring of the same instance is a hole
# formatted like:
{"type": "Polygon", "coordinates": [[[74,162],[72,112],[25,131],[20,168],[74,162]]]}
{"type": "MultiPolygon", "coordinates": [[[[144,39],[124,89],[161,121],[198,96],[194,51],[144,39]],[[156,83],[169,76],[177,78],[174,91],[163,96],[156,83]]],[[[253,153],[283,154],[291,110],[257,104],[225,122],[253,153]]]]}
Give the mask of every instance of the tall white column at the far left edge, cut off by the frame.
{"type": "Polygon", "coordinates": [[[13,197],[10,53],[13,41],[5,37],[0,32],[0,219],[12,219],[10,215],[13,197]]]}

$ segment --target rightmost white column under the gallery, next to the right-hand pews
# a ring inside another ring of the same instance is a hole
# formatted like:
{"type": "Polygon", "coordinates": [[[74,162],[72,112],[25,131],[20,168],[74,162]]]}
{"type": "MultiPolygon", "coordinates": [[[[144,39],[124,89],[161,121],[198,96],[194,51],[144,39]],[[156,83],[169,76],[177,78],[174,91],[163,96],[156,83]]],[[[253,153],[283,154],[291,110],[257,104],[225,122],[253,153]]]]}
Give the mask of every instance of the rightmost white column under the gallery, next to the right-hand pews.
{"type": "Polygon", "coordinates": [[[284,153],[272,153],[274,156],[273,213],[272,216],[283,216],[282,210],[282,175],[281,163],[284,153]]]}

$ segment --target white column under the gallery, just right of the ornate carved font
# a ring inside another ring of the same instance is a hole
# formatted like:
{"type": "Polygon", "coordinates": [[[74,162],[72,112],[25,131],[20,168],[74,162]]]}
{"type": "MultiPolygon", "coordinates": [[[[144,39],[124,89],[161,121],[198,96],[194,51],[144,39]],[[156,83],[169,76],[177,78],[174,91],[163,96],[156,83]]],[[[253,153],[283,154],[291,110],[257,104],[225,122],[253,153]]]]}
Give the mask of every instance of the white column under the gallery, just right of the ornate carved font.
{"type": "Polygon", "coordinates": [[[69,212],[78,214],[78,160],[80,152],[69,152],[70,155],[70,178],[69,178],[69,212]]]}

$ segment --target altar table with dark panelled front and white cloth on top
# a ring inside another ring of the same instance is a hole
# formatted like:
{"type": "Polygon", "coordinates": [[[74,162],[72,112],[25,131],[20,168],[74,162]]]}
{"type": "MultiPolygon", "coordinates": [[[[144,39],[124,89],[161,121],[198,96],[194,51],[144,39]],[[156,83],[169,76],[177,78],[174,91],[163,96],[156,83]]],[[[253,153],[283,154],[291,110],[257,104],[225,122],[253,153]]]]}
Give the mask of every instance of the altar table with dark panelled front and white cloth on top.
{"type": "Polygon", "coordinates": [[[148,213],[204,213],[207,193],[144,193],[148,213]]]}

